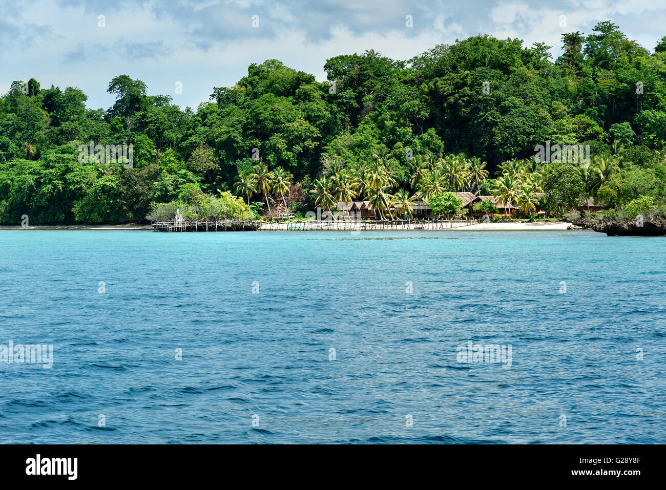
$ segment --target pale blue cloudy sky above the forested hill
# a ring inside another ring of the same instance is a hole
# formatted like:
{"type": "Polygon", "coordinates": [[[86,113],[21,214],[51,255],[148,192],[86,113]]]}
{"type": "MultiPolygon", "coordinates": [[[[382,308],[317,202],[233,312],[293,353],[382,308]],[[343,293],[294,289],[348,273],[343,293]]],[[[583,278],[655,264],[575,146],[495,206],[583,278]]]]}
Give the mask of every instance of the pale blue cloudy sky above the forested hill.
{"type": "Polygon", "coordinates": [[[326,79],[337,55],[379,51],[410,59],[438,44],[488,34],[543,41],[611,20],[653,51],[666,35],[655,0],[0,0],[0,94],[31,77],[79,87],[108,109],[109,81],[129,75],[184,109],[229,87],[251,63],[279,59],[326,79]],[[411,17],[408,17],[411,16],[411,17]],[[411,20],[411,25],[410,25],[411,20]],[[179,88],[180,87],[180,91],[179,88]],[[182,93],[181,93],[182,92],[182,93]]]}

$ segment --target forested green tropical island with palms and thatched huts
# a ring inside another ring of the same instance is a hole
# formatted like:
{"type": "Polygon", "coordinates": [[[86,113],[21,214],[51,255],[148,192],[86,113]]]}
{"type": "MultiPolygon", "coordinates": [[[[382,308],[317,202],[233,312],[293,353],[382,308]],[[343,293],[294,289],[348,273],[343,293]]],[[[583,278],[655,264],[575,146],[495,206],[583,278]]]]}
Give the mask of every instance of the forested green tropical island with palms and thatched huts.
{"type": "Polygon", "coordinates": [[[0,224],[305,220],[587,222],[666,215],[666,37],[610,21],[563,53],[487,35],[409,60],[375,51],[327,80],[267,60],[184,111],[115,77],[0,97],[0,224]],[[182,213],[182,214],[180,214],[182,213]]]}

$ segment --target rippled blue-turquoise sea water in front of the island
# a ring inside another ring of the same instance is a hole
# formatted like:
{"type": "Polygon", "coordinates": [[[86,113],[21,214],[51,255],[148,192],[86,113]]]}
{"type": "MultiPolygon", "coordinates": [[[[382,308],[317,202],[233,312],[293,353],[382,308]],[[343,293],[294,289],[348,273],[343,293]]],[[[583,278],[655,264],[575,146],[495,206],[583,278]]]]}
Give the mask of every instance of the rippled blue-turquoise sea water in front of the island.
{"type": "Polygon", "coordinates": [[[3,231],[0,344],[52,344],[53,367],[0,364],[0,442],[665,443],[665,251],[3,231]],[[510,366],[462,362],[470,341],[511,346],[510,366]]]}

